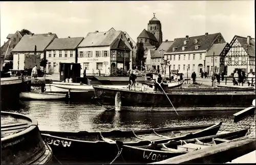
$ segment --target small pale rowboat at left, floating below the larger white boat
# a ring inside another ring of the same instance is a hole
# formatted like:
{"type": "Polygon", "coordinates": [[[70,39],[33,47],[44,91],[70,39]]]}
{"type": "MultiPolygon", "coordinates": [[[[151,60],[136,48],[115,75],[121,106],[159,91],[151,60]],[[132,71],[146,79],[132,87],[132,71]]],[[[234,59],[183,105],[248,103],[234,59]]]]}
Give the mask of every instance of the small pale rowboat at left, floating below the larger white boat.
{"type": "Polygon", "coordinates": [[[67,94],[50,92],[20,92],[20,99],[26,100],[61,100],[65,99],[67,94]]]}

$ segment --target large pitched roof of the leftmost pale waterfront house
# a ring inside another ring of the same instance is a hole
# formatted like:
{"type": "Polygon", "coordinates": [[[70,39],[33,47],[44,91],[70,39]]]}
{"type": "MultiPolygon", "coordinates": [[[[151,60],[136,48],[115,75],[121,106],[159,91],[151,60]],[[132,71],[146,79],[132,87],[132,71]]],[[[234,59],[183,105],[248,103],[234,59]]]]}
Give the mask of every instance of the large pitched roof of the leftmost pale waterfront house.
{"type": "Polygon", "coordinates": [[[26,34],[18,42],[12,52],[34,52],[35,45],[37,51],[42,52],[54,38],[58,38],[56,34],[26,34]]]}

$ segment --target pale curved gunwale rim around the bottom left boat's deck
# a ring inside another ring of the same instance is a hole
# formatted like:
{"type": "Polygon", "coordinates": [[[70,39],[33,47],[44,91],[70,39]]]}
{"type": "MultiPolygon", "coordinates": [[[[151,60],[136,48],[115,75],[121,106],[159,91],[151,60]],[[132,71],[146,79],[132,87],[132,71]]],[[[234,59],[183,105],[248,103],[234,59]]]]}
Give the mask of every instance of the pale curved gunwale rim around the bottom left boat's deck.
{"type": "Polygon", "coordinates": [[[8,140],[11,140],[11,139],[14,139],[14,138],[17,138],[19,136],[23,136],[27,133],[29,133],[30,131],[34,130],[36,127],[38,127],[38,122],[34,119],[34,117],[31,117],[31,116],[26,116],[24,114],[19,114],[19,113],[14,113],[14,112],[6,112],[6,111],[1,111],[1,117],[2,117],[2,113],[4,113],[4,115],[11,115],[11,116],[18,116],[19,119],[22,118],[22,119],[26,119],[27,121],[30,121],[31,124],[24,130],[18,132],[18,133],[15,133],[15,134],[12,134],[12,135],[8,135],[6,137],[1,137],[1,143],[5,143],[5,142],[8,142],[8,140]]]}

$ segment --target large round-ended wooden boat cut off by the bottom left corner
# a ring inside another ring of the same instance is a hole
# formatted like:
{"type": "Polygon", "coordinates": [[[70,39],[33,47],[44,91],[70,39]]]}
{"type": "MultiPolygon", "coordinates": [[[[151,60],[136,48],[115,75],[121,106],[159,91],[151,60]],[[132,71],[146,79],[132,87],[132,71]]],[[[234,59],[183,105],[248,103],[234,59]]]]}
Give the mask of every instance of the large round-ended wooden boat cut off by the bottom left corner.
{"type": "Polygon", "coordinates": [[[46,164],[52,162],[53,155],[36,120],[1,111],[1,156],[1,164],[46,164]]]}

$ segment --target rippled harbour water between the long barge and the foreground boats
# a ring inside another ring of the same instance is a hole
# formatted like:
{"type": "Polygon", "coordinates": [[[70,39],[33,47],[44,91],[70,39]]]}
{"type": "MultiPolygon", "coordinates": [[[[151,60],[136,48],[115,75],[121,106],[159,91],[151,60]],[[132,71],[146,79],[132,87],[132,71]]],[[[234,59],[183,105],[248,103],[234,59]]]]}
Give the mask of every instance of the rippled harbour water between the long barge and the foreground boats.
{"type": "Polygon", "coordinates": [[[99,105],[68,104],[62,101],[20,101],[18,106],[5,110],[32,116],[38,121],[40,130],[48,131],[138,130],[223,122],[220,132],[229,132],[249,127],[253,123],[253,116],[233,123],[233,114],[238,110],[178,111],[177,116],[175,111],[115,112],[104,111],[99,105]]]}

